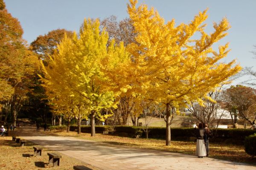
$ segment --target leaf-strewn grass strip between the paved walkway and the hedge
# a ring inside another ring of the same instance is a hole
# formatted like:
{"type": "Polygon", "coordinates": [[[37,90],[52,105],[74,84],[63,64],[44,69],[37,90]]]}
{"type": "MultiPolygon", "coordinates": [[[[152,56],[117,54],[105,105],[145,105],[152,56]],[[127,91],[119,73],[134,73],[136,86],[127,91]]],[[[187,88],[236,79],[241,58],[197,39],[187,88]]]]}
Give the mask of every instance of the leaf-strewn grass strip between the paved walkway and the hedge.
{"type": "MultiPolygon", "coordinates": [[[[90,133],[81,133],[81,135],[78,135],[76,132],[66,133],[61,131],[53,131],[49,132],[49,134],[57,136],[74,136],[80,139],[108,142],[116,145],[148,148],[154,150],[166,150],[169,152],[184,153],[189,155],[195,155],[196,148],[196,142],[172,141],[171,146],[165,146],[165,140],[160,139],[133,139],[103,134],[96,134],[95,137],[91,137],[90,133]]],[[[256,158],[245,153],[244,146],[242,145],[211,143],[210,141],[209,157],[256,165],[256,158]]]]}

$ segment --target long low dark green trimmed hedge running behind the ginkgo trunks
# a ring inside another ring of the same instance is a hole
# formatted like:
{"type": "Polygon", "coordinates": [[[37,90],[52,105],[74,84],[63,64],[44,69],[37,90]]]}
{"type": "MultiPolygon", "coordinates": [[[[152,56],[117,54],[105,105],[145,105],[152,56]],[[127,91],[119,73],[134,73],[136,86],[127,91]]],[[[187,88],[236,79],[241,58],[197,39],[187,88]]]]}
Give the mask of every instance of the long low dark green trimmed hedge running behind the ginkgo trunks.
{"type": "MultiPolygon", "coordinates": [[[[77,131],[77,125],[71,125],[70,130],[77,131]]],[[[108,133],[108,131],[111,131],[111,126],[107,126],[107,125],[96,126],[95,130],[96,130],[96,133],[108,133]]],[[[91,131],[90,126],[81,125],[82,133],[90,133],[90,131],[91,131]]],[[[166,138],[165,127],[148,127],[148,131],[149,131],[148,138],[153,138],[153,139],[166,138]]],[[[171,139],[172,140],[189,140],[190,137],[193,136],[194,131],[195,131],[194,128],[188,128],[188,127],[171,128],[171,139]]],[[[236,142],[236,144],[243,144],[245,137],[250,136],[255,132],[256,130],[251,130],[251,129],[218,129],[216,133],[216,138],[212,139],[212,142],[215,140],[216,142],[229,141],[229,142],[236,142]]],[[[136,135],[140,135],[142,137],[146,136],[143,130],[143,127],[138,127],[138,126],[116,126],[114,134],[116,135],[122,134],[122,136],[127,134],[126,136],[129,136],[129,137],[134,137],[136,135]]],[[[213,136],[215,136],[215,134],[213,134],[213,136]]]]}

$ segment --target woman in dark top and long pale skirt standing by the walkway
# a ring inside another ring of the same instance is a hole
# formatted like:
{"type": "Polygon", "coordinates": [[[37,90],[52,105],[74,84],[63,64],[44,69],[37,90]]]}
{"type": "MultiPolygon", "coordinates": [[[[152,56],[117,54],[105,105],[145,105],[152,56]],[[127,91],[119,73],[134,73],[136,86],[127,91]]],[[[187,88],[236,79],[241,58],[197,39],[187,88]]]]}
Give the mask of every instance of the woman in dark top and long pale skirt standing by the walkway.
{"type": "Polygon", "coordinates": [[[195,135],[196,135],[196,152],[195,155],[198,156],[198,158],[203,158],[206,156],[206,149],[204,144],[204,125],[203,123],[199,123],[198,128],[195,129],[195,135]]]}

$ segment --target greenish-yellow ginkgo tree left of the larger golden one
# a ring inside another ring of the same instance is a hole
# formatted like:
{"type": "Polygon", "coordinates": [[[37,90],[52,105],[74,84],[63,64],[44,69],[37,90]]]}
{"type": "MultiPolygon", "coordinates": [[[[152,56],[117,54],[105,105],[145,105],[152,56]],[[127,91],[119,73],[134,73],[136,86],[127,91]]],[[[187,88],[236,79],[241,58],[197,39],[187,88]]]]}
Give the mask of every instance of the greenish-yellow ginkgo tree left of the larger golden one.
{"type": "Polygon", "coordinates": [[[98,19],[85,19],[79,36],[76,33],[73,38],[65,36],[57,47],[58,52],[49,57],[48,66],[42,65],[45,73],[42,80],[50,93],[58,95],[60,100],[68,96],[76,101],[78,111],[83,108],[85,113],[90,113],[91,136],[95,136],[96,116],[103,119],[102,109],[116,105],[117,93],[111,90],[113,83],[104,71],[129,59],[123,43],[115,45],[112,40],[107,45],[108,33],[100,31],[99,24],[98,19]]]}

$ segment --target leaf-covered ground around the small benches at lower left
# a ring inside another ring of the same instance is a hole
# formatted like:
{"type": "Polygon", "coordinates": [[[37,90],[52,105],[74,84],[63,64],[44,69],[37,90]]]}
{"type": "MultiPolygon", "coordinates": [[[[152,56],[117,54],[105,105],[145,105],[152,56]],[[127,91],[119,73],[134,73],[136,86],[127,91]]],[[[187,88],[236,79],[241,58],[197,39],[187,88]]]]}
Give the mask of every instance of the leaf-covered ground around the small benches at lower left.
{"type": "Polygon", "coordinates": [[[20,143],[12,141],[11,136],[0,137],[0,170],[73,170],[74,165],[85,165],[93,170],[98,170],[98,168],[63,154],[61,154],[59,167],[52,167],[52,165],[47,167],[49,163],[47,152],[58,152],[44,148],[42,156],[34,157],[33,146],[36,144],[26,142],[26,146],[20,147],[20,143]]]}

